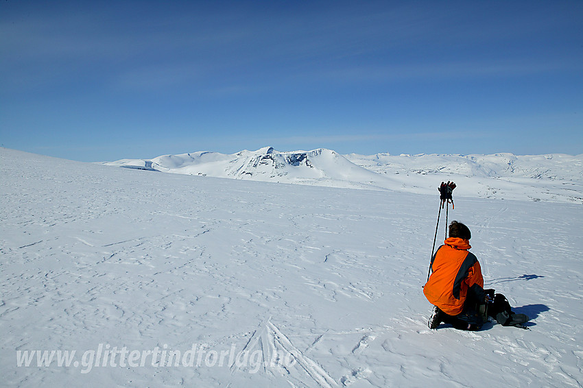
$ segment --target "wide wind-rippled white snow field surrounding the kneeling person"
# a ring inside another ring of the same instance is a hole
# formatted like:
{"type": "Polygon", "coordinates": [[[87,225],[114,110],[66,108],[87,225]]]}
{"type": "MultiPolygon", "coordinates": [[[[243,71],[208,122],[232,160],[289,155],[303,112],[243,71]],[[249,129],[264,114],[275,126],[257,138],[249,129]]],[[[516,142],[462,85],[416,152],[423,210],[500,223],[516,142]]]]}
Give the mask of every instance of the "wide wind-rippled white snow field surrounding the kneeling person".
{"type": "Polygon", "coordinates": [[[339,189],[0,149],[0,385],[581,387],[583,207],[561,194],[580,176],[508,186],[540,182],[534,201],[454,175],[486,288],[532,317],[462,332],[429,330],[422,292],[452,175],[411,175],[428,194],[398,175],[339,189]]]}

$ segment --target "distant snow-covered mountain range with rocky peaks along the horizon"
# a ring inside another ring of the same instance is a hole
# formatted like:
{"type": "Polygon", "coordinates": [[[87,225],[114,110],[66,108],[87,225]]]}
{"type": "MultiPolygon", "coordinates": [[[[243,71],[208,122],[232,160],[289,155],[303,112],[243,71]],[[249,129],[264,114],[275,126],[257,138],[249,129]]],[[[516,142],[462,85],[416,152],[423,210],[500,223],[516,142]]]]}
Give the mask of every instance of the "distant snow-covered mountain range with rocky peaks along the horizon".
{"type": "Polygon", "coordinates": [[[458,195],[583,203],[583,155],[340,155],[330,149],[219,154],[199,151],[106,165],[217,178],[433,194],[435,182],[463,183],[458,195]],[[477,178],[477,179],[476,179],[477,178]]]}

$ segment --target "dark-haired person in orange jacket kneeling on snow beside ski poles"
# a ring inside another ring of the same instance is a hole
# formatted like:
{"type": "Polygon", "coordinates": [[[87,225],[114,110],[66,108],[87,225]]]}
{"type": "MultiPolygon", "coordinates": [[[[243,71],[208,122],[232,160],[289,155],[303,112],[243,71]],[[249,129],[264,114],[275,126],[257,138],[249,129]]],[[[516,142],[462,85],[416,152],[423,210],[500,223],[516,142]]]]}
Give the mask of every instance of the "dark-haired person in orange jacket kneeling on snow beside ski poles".
{"type": "Polygon", "coordinates": [[[429,328],[444,322],[459,330],[479,330],[488,316],[503,326],[521,326],[526,315],[513,313],[504,295],[484,290],[479,262],[468,252],[471,237],[467,226],[453,221],[449,239],[431,258],[432,273],[423,287],[425,298],[434,305],[429,328]]]}

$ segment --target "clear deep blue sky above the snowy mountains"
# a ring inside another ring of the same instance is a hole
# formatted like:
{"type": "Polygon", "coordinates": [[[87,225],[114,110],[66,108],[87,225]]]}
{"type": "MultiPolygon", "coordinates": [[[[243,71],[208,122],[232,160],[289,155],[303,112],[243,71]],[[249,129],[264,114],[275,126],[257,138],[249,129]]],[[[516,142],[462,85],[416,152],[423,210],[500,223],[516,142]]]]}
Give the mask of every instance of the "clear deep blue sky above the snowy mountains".
{"type": "Polygon", "coordinates": [[[583,1],[1,1],[0,145],[582,154],[583,1]]]}

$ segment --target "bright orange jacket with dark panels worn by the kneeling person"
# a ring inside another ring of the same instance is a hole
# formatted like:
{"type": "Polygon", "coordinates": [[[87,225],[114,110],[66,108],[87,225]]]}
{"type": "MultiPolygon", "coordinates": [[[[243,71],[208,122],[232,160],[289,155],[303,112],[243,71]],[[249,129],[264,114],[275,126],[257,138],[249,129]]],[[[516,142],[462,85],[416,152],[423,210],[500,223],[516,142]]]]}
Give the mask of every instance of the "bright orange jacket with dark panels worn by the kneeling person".
{"type": "Polygon", "coordinates": [[[431,258],[429,280],[423,288],[425,298],[448,315],[464,309],[468,290],[484,300],[484,278],[476,256],[468,252],[468,240],[450,237],[431,258]]]}

